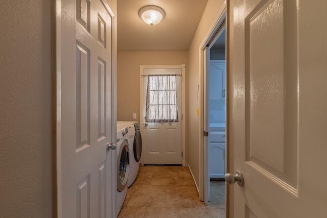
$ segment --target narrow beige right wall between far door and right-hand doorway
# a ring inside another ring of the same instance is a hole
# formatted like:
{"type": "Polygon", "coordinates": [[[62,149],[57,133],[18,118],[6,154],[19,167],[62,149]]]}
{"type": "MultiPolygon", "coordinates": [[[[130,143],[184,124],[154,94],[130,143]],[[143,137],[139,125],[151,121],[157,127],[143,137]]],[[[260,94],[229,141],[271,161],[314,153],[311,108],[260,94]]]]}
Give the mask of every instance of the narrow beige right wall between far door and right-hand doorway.
{"type": "MultiPolygon", "coordinates": [[[[197,31],[193,37],[190,49],[189,49],[189,77],[188,77],[188,99],[186,113],[186,144],[188,145],[186,149],[186,157],[188,157],[189,166],[194,176],[197,187],[200,187],[200,146],[199,146],[199,136],[200,130],[200,119],[196,116],[197,105],[197,95],[198,95],[198,85],[200,85],[200,78],[203,77],[201,74],[201,51],[200,46],[206,39],[207,35],[215,26],[218,20],[219,13],[223,6],[223,0],[208,0],[205,7],[204,13],[202,15],[201,21],[197,28],[197,31]]],[[[201,110],[202,106],[199,105],[201,110]]]]}

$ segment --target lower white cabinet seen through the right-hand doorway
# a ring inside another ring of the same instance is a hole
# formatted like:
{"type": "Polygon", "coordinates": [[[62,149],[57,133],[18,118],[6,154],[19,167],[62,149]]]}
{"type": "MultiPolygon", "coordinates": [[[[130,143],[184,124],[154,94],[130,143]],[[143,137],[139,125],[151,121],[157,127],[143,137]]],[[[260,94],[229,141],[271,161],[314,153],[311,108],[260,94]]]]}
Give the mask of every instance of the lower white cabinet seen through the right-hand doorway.
{"type": "Polygon", "coordinates": [[[225,131],[213,130],[209,133],[209,176],[225,177],[225,131]]]}

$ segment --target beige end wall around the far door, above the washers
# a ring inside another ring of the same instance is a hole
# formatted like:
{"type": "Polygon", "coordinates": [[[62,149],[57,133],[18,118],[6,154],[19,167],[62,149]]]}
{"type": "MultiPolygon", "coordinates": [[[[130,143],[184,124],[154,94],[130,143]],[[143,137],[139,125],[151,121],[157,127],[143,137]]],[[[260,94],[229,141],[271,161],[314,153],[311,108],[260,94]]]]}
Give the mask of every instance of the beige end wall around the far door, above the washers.
{"type": "Polygon", "coordinates": [[[136,113],[139,123],[139,65],[186,64],[187,77],[188,60],[187,51],[118,52],[117,120],[133,120],[136,113]]]}

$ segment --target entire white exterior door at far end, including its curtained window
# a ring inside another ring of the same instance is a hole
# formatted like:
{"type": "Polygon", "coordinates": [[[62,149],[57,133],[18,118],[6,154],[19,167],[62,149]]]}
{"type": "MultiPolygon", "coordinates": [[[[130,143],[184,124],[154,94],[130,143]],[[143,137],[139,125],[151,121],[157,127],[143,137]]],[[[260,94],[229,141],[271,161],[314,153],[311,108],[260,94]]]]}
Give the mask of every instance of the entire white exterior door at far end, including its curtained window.
{"type": "Polygon", "coordinates": [[[143,69],[144,164],[182,165],[182,69],[143,69]]]}

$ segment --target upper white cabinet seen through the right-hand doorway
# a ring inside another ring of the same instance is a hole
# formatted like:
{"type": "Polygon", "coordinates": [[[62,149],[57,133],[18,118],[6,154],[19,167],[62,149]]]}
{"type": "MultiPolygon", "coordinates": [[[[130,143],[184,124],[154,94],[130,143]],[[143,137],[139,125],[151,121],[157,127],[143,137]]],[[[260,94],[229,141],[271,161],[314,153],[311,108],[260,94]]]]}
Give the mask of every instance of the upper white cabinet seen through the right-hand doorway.
{"type": "Polygon", "coordinates": [[[226,61],[210,61],[209,99],[221,100],[226,96],[226,61]]]}

